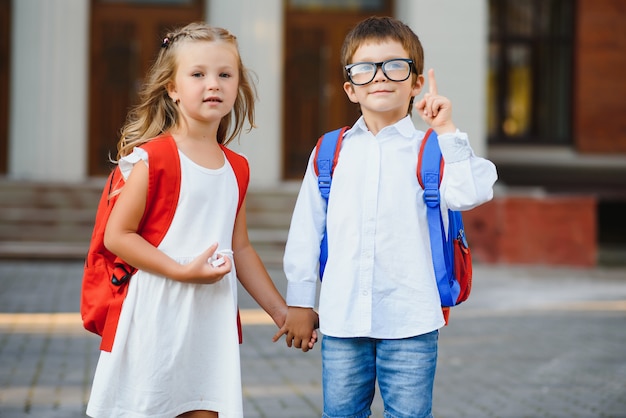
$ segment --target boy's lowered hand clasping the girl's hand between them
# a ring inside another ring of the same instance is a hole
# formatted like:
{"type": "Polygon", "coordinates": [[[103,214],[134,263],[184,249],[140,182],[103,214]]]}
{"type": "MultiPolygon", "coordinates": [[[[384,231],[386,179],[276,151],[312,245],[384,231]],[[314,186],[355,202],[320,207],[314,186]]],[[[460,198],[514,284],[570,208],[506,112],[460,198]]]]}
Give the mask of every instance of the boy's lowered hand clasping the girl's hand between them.
{"type": "Polygon", "coordinates": [[[315,346],[317,342],[317,327],[319,317],[313,308],[299,308],[290,306],[287,312],[285,324],[274,335],[272,341],[276,342],[285,335],[287,347],[292,345],[295,348],[307,352],[315,346]]]}

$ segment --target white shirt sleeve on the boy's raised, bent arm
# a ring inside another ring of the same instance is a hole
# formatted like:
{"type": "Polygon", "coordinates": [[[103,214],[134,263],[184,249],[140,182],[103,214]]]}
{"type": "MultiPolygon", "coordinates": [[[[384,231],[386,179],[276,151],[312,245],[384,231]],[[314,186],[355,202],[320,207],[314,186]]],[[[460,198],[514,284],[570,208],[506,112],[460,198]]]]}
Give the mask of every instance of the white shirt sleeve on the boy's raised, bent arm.
{"type": "Polygon", "coordinates": [[[439,147],[445,162],[440,189],[446,207],[470,210],[493,198],[496,166],[474,154],[466,133],[440,135],[439,147]]]}

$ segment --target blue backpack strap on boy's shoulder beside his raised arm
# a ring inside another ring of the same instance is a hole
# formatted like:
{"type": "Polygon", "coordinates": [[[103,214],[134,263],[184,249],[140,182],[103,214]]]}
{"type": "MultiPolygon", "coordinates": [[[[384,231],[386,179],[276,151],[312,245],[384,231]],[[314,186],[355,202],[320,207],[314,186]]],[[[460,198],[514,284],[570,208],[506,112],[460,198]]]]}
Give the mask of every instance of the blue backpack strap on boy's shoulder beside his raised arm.
{"type": "MultiPolygon", "coordinates": [[[[454,306],[460,293],[460,286],[454,278],[453,241],[446,237],[441,217],[439,184],[443,173],[442,166],[443,158],[437,134],[429,129],[420,147],[418,179],[424,188],[430,247],[441,305],[454,306]]],[[[452,220],[458,212],[448,210],[448,215],[452,220]]],[[[450,224],[448,230],[453,234],[454,226],[450,224]]]]}

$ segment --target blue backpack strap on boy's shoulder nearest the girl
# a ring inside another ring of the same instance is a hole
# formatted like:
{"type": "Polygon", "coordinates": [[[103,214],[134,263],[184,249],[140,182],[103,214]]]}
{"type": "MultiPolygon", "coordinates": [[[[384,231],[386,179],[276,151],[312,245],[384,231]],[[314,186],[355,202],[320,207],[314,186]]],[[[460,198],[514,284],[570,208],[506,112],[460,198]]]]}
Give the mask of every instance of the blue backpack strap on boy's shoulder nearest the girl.
{"type": "MultiPolygon", "coordinates": [[[[327,132],[320,137],[317,141],[314,168],[317,174],[317,185],[320,189],[320,194],[326,201],[326,207],[328,208],[328,197],[330,196],[330,185],[333,180],[333,171],[335,165],[337,165],[337,159],[339,158],[339,151],[341,150],[341,141],[343,140],[343,134],[348,130],[349,126],[335,129],[334,131],[327,132]]],[[[324,236],[320,243],[320,280],[324,276],[324,269],[326,268],[326,261],[328,260],[328,236],[326,233],[326,226],[324,226],[324,236]]]]}

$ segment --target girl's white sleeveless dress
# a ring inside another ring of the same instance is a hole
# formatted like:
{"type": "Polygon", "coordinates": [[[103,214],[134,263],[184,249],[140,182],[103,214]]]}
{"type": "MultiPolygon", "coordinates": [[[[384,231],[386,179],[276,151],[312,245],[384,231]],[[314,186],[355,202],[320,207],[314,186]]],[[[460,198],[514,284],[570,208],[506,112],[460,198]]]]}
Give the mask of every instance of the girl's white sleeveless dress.
{"type": "MultiPolygon", "coordinates": [[[[184,154],[178,207],[159,248],[186,263],[211,244],[230,249],[238,202],[226,157],[217,170],[184,154]]],[[[125,176],[144,150],[120,161],[125,176]]],[[[149,162],[148,162],[149,164],[149,162]]],[[[87,414],[107,418],[172,418],[191,410],[243,417],[233,271],[212,285],[183,284],[138,271],[110,353],[101,352],[87,414]]]]}

